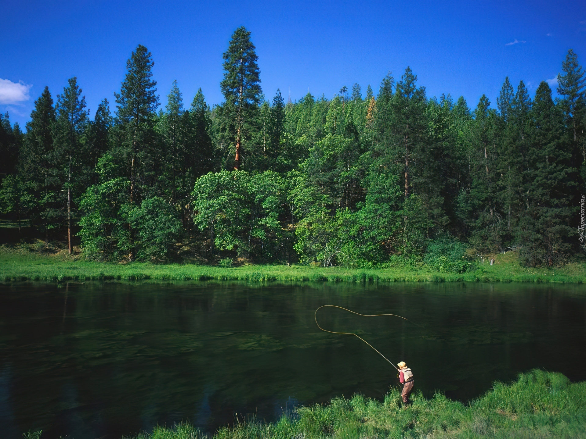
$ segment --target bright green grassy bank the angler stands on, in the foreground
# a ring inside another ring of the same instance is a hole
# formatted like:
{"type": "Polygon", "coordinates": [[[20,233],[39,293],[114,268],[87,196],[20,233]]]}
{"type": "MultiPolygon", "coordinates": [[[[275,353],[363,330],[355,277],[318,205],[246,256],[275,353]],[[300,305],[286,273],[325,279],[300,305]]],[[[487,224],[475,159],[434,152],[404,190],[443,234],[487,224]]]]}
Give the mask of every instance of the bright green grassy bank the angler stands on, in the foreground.
{"type": "MultiPolygon", "coordinates": [[[[135,439],[191,439],[189,425],[157,427],[135,439]]],[[[534,370],[469,404],[437,393],[421,393],[403,408],[397,389],[381,402],[357,395],[326,405],[299,407],[277,423],[247,422],[224,427],[214,439],[272,438],[586,438],[586,382],[570,383],[561,373],[534,370]]],[[[128,439],[128,438],[127,438],[128,439]]]]}

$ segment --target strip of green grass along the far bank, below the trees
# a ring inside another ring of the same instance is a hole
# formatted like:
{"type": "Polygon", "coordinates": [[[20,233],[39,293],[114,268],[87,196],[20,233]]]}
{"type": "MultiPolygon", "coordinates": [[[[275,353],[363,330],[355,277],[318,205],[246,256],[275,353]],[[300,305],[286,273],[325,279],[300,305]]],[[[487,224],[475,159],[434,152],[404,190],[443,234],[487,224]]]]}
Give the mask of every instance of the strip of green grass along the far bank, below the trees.
{"type": "Polygon", "coordinates": [[[145,262],[105,263],[54,254],[0,247],[0,281],[44,280],[252,280],[328,282],[586,282],[586,263],[574,262],[556,269],[527,268],[516,253],[497,255],[496,263],[479,265],[468,273],[441,273],[426,267],[385,269],[310,267],[302,265],[246,265],[219,267],[194,264],[155,265],[145,262]]]}

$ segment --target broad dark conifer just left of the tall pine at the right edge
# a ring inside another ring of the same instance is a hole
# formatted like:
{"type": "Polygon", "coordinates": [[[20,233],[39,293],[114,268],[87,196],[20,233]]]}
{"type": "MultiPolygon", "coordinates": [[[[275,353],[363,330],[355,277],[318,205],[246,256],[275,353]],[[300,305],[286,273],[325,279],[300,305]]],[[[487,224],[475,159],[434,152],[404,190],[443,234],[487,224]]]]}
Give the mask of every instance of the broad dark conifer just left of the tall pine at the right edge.
{"type": "Polygon", "coordinates": [[[564,116],[546,82],[537,88],[530,117],[522,186],[517,181],[522,193],[520,253],[527,265],[553,266],[567,260],[573,248],[575,231],[570,224],[577,183],[571,145],[564,136],[564,116]]]}

